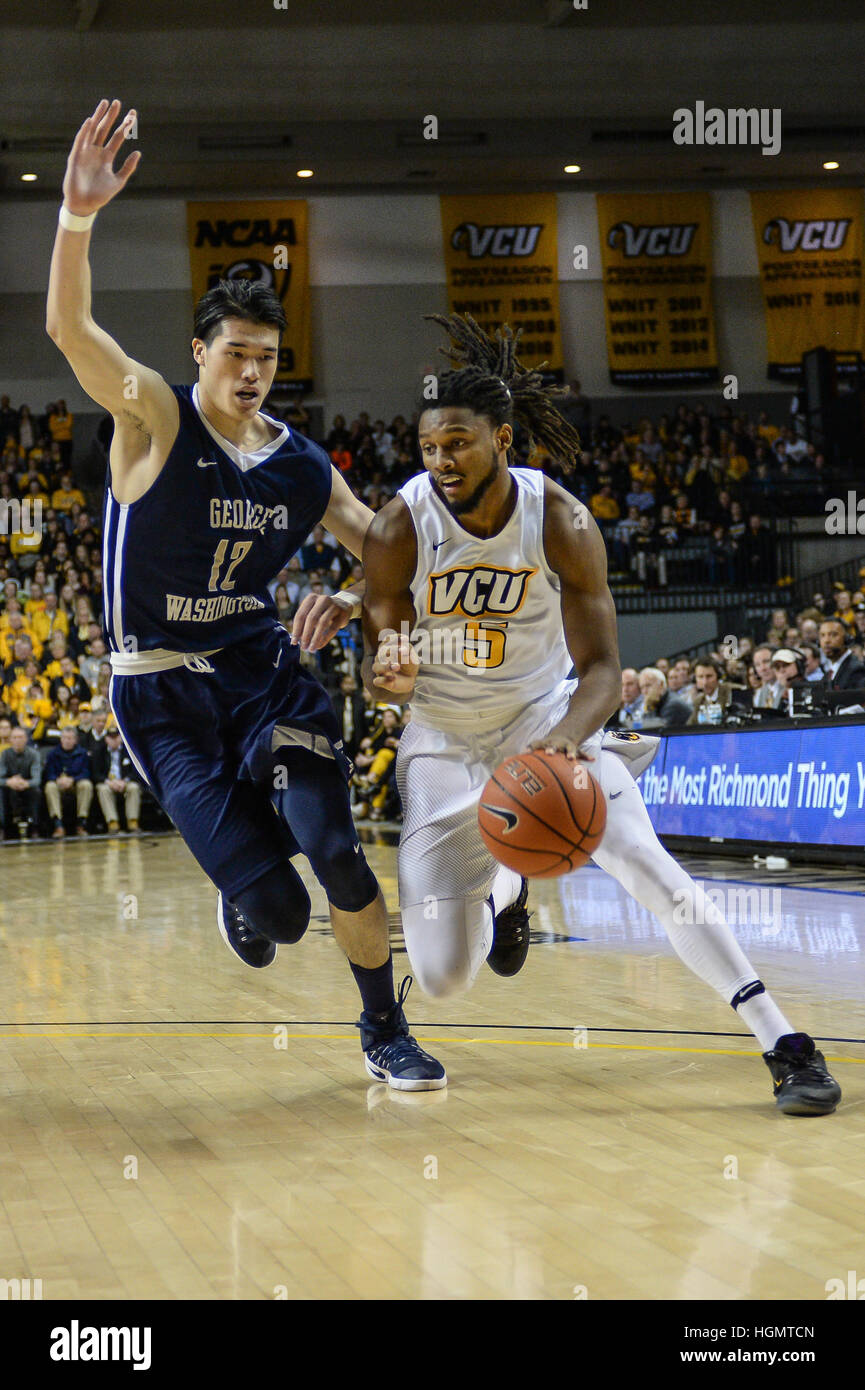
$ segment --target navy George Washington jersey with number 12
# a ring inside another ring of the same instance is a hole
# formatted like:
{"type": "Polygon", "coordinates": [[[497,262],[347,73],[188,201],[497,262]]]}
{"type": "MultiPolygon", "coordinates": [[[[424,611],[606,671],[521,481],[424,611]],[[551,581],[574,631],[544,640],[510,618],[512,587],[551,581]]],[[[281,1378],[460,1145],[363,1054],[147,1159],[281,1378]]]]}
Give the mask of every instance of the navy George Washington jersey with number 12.
{"type": "Polygon", "coordinates": [[[330,503],[320,445],[273,420],[278,438],[243,455],[204,420],[196,388],[171,389],[181,417],[156,482],[118,503],[108,470],[103,587],[115,652],[209,652],[270,634],[267,584],[330,503]]]}

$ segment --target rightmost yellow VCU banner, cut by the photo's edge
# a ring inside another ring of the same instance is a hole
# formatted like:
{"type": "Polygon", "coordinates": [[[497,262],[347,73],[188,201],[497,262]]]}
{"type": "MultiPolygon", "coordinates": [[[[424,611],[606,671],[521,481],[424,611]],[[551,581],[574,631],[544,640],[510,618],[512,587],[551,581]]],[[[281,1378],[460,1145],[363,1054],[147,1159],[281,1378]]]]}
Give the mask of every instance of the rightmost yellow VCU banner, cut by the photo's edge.
{"type": "MultiPolygon", "coordinates": [[[[862,190],[751,193],[766,306],[768,375],[798,377],[811,348],[865,350],[862,190]]],[[[855,363],[839,363],[855,371],[855,363]]]]}

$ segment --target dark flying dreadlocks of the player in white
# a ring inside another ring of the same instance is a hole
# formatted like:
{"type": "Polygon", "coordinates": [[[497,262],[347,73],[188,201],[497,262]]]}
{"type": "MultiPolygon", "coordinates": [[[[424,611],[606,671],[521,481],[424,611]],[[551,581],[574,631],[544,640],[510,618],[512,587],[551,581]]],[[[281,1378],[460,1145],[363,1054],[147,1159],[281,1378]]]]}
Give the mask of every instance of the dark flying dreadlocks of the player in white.
{"type": "Polygon", "coordinates": [[[566,473],[572,473],[580,459],[580,435],[555,407],[559,391],[545,386],[540,371],[528,371],[517,361],[523,329],[515,334],[505,324],[496,328],[492,339],[470,314],[464,318],[460,314],[426,317],[451,335],[453,346],[439,348],[439,352],[455,367],[438,378],[438,396],[435,402],[424,402],[424,407],[466,406],[494,425],[516,421],[528,432],[533,445],[542,445],[566,473]]]}

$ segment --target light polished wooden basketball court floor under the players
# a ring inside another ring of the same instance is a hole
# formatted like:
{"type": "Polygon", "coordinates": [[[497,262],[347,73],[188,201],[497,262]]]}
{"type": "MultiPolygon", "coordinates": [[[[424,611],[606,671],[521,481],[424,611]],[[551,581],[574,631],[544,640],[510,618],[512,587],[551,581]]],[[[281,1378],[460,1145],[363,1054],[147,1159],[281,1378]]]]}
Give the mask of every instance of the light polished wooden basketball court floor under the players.
{"type": "MultiPolygon", "coordinates": [[[[369,856],[395,906],[394,848],[369,856]]],[[[857,877],[763,878],[780,920],[737,930],[844,1088],[793,1119],[594,867],[533,885],[517,979],[412,991],[451,1081],[423,1095],[366,1076],[317,885],[257,973],[174,835],[10,845],[0,874],[0,1276],[46,1300],[820,1300],[862,1266],[857,877]]]]}

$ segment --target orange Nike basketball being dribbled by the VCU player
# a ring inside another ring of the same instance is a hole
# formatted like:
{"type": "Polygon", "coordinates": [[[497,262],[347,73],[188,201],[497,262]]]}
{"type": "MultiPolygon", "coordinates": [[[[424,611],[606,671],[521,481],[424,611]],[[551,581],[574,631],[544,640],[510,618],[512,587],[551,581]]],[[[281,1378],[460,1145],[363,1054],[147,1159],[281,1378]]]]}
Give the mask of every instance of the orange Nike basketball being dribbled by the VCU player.
{"type": "Polygon", "coordinates": [[[495,769],[477,820],[499,863],[524,878],[558,878],[601,844],[606,801],[585,763],[565,753],[520,753],[495,769]]]}

